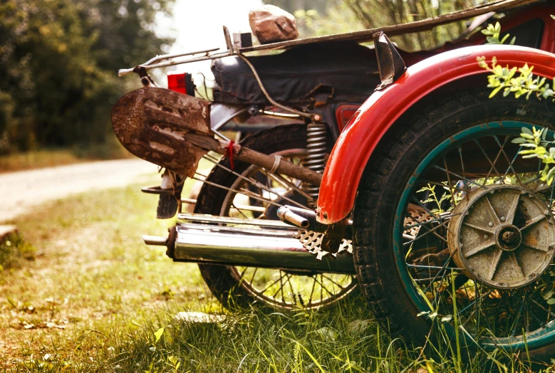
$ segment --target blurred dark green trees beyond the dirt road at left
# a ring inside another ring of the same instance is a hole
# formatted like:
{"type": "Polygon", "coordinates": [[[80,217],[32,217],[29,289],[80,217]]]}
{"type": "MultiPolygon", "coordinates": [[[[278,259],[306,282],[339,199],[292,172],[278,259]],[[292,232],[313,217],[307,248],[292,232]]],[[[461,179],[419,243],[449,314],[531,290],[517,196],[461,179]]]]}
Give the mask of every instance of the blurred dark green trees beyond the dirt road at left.
{"type": "Polygon", "coordinates": [[[2,1],[0,151],[103,142],[115,71],[168,42],[152,23],[171,1],[2,1]]]}

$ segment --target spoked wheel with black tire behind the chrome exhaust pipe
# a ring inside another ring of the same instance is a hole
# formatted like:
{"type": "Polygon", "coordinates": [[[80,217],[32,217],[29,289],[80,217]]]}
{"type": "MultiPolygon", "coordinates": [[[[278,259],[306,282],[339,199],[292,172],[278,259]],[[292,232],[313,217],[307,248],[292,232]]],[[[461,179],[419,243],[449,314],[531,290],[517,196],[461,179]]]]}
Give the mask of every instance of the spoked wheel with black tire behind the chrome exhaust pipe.
{"type": "MultiPolygon", "coordinates": [[[[247,137],[242,145],[266,154],[279,154],[299,164],[306,157],[306,125],[262,131],[247,137]]],[[[229,169],[228,159],[219,163],[229,169]]],[[[214,167],[207,180],[228,189],[204,184],[195,212],[276,220],[279,206],[308,207],[309,200],[299,192],[302,185],[298,180],[280,174],[269,175],[259,167],[242,162],[236,161],[234,166],[234,172],[240,177],[223,167],[214,167]]],[[[208,264],[199,264],[199,268],[214,296],[228,308],[254,302],[276,309],[321,308],[351,295],[357,285],[352,275],[336,273],[208,264]]]]}

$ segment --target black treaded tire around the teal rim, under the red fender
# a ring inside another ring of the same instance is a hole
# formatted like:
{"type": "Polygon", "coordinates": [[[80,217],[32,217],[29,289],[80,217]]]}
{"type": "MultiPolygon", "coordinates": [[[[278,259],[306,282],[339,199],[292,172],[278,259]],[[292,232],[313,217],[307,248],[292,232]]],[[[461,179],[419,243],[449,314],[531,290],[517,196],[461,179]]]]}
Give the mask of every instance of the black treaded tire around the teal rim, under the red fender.
{"type": "MultiPolygon", "coordinates": [[[[411,175],[432,149],[474,125],[499,120],[524,120],[554,128],[551,100],[488,98],[489,90],[452,96],[425,110],[404,115],[380,142],[365,167],[354,207],[353,251],[356,272],[366,300],[382,325],[420,345],[431,322],[408,295],[393,252],[395,211],[411,175]]],[[[402,221],[402,220],[401,220],[402,221]]],[[[530,350],[535,359],[553,357],[555,346],[530,350]]]]}

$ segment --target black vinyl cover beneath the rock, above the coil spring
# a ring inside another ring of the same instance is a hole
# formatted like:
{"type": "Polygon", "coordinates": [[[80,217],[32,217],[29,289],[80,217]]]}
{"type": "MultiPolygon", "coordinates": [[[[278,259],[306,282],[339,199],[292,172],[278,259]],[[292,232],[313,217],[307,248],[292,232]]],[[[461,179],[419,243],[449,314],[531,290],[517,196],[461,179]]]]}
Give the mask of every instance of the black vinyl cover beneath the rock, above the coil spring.
{"type": "MultiPolygon", "coordinates": [[[[356,42],[315,43],[283,53],[251,56],[271,98],[280,103],[362,103],[380,84],[373,49],[356,42]]],[[[220,58],[212,63],[216,80],[214,101],[266,104],[268,100],[241,58],[220,58]]]]}

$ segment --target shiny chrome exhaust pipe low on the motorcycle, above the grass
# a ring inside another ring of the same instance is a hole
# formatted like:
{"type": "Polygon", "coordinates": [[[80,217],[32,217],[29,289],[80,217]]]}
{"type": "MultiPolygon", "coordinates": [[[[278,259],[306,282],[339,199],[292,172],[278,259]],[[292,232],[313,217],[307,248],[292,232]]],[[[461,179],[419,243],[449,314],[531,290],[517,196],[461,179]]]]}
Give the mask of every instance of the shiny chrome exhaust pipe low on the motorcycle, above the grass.
{"type": "Polygon", "coordinates": [[[318,261],[303,248],[295,234],[295,229],[178,224],[167,239],[152,236],[143,239],[145,243],[167,245],[167,256],[174,261],[356,274],[351,256],[318,261]]]}

